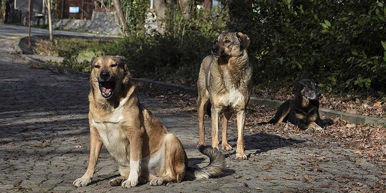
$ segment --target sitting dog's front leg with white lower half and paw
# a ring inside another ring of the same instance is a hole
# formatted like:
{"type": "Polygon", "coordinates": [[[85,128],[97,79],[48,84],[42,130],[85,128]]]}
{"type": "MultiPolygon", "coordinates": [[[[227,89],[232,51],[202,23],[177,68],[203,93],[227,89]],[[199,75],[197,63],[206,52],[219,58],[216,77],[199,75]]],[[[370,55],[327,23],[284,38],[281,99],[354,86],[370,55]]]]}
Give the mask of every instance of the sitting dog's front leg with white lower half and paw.
{"type": "Polygon", "coordinates": [[[142,155],[142,129],[141,132],[130,134],[130,173],[129,178],[122,182],[122,188],[137,186],[141,166],[142,155]]]}

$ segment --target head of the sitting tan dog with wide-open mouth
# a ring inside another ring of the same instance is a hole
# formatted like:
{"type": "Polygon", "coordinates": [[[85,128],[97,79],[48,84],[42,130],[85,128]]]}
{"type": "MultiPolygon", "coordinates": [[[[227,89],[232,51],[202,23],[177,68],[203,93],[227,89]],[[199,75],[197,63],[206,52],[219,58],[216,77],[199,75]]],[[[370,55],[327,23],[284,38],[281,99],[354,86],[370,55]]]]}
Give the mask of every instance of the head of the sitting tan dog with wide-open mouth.
{"type": "Polygon", "coordinates": [[[123,56],[99,56],[91,61],[90,84],[94,91],[99,88],[103,98],[111,98],[129,79],[123,56]]]}

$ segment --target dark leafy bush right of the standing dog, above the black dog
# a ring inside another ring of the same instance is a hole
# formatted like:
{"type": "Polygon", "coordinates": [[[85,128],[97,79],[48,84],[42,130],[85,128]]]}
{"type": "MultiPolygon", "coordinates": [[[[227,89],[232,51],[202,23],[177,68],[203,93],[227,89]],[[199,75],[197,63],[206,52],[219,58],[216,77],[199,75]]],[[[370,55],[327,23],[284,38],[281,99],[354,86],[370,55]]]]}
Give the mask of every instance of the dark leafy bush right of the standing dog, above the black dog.
{"type": "Polygon", "coordinates": [[[384,1],[254,0],[254,17],[229,24],[251,39],[254,80],[312,78],[334,93],[386,90],[384,1]]]}

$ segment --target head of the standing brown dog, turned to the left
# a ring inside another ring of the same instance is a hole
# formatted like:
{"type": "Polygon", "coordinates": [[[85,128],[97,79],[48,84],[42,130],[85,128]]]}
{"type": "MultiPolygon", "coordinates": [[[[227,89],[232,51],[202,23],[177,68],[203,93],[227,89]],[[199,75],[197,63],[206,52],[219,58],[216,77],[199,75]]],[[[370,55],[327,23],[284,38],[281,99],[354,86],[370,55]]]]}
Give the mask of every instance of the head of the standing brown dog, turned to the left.
{"type": "Polygon", "coordinates": [[[212,47],[212,55],[217,58],[241,56],[249,46],[251,39],[241,32],[221,32],[212,47]]]}

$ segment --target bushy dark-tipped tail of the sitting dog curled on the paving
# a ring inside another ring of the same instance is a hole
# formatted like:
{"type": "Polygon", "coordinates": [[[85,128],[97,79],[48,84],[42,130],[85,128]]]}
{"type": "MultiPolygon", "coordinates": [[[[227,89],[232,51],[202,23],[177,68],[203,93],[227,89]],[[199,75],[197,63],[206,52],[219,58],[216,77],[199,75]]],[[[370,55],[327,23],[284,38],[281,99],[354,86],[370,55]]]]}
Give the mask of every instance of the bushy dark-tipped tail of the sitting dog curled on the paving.
{"type": "Polygon", "coordinates": [[[203,168],[188,167],[184,179],[209,179],[222,174],[223,170],[226,168],[224,154],[211,146],[200,146],[198,150],[209,157],[209,164],[203,168]]]}

